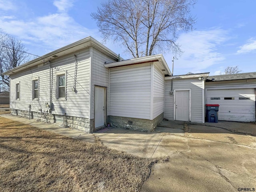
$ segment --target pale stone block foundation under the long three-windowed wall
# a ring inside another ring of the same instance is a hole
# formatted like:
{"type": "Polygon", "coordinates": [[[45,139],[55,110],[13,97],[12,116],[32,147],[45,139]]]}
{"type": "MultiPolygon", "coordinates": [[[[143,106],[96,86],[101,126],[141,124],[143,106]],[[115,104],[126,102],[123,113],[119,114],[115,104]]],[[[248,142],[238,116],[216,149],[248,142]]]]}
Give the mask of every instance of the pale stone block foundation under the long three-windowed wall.
{"type": "Polygon", "coordinates": [[[29,112],[24,110],[11,109],[11,115],[20,116],[23,118],[33,118],[33,114],[37,114],[37,121],[44,123],[55,123],[59,126],[70,127],[87,133],[92,133],[94,129],[94,119],[63,116],[63,123],[56,122],[55,115],[43,112],[29,112]],[[19,111],[19,113],[18,113],[19,111]]]}

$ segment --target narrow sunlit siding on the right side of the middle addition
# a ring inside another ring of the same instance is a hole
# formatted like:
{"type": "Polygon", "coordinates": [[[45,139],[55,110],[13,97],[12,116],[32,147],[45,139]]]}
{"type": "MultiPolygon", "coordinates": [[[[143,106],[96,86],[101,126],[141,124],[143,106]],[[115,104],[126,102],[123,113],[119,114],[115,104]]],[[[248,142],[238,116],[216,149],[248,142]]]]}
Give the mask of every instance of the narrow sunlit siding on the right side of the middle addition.
{"type": "Polygon", "coordinates": [[[164,74],[154,66],[153,119],[164,112],[164,74]]]}

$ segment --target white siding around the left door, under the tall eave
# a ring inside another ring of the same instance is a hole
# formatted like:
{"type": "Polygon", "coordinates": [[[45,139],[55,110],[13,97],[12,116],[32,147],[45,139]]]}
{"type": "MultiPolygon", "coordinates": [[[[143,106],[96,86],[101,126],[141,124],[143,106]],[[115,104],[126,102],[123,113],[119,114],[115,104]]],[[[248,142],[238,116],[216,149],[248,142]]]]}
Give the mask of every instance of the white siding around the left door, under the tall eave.
{"type": "MultiPolygon", "coordinates": [[[[111,59],[110,57],[106,56],[99,50],[92,48],[91,50],[91,57],[92,57],[92,72],[91,72],[91,114],[90,119],[94,119],[94,86],[104,86],[107,89],[107,98],[109,95],[109,69],[104,67],[105,62],[111,63],[115,62],[115,60],[111,59]]],[[[109,103],[109,98],[108,98],[109,103]]],[[[108,104],[107,104],[107,113],[108,113],[108,104]]],[[[107,114],[108,115],[108,114],[107,114]]]]}

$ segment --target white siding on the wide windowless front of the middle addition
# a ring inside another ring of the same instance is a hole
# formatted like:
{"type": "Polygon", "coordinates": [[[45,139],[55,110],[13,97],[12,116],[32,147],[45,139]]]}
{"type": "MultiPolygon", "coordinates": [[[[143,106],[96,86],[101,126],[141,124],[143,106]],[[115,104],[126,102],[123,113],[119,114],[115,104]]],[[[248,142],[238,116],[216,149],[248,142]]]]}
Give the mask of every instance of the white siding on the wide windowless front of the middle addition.
{"type": "Polygon", "coordinates": [[[110,69],[110,114],[150,119],[151,63],[110,69]]]}

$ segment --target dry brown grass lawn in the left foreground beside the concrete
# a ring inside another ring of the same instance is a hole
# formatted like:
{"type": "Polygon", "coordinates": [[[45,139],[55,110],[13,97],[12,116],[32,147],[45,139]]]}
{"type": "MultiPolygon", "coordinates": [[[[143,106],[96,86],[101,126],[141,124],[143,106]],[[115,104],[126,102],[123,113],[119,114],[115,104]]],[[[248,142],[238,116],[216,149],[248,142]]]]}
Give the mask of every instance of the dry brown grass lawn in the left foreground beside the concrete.
{"type": "Polygon", "coordinates": [[[0,191],[140,191],[152,164],[0,117],[0,191]]]}

